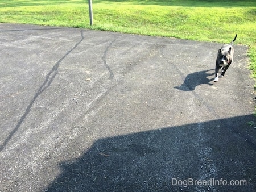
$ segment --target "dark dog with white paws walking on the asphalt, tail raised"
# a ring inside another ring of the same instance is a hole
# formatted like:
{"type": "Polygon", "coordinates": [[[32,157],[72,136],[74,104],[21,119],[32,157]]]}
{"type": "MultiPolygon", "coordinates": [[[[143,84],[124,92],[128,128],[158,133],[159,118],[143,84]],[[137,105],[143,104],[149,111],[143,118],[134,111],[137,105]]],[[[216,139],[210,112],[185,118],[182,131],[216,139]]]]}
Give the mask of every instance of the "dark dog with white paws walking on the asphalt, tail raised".
{"type": "Polygon", "coordinates": [[[226,70],[231,65],[234,58],[234,48],[232,47],[232,45],[234,44],[234,41],[236,39],[237,39],[237,34],[234,37],[234,40],[230,42],[230,44],[222,45],[222,47],[218,50],[218,56],[216,59],[216,66],[215,66],[214,82],[218,81],[218,77],[223,77],[225,75],[226,70]],[[220,69],[221,69],[221,75],[218,76],[218,72],[220,71],[220,69]]]}

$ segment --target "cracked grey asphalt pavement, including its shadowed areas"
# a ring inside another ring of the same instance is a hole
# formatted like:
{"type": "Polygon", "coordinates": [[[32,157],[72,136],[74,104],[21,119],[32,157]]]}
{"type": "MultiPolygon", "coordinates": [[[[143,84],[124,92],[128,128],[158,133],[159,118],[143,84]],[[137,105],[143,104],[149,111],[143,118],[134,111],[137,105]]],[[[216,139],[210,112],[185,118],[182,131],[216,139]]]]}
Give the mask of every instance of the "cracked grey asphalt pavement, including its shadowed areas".
{"type": "Polygon", "coordinates": [[[247,47],[214,82],[218,43],[6,23],[0,42],[0,191],[256,190],[247,47]]]}

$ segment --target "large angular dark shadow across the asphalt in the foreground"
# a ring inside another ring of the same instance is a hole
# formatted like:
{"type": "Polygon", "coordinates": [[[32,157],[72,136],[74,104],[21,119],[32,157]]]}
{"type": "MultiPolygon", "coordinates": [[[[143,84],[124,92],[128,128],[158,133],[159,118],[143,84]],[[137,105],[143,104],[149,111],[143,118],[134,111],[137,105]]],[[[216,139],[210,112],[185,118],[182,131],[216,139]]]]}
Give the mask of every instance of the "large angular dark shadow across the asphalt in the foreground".
{"type": "Polygon", "coordinates": [[[75,161],[62,162],[63,172],[45,190],[253,191],[256,133],[245,123],[251,120],[237,116],[96,140],[75,161]],[[188,178],[247,185],[175,185],[188,178]]]}

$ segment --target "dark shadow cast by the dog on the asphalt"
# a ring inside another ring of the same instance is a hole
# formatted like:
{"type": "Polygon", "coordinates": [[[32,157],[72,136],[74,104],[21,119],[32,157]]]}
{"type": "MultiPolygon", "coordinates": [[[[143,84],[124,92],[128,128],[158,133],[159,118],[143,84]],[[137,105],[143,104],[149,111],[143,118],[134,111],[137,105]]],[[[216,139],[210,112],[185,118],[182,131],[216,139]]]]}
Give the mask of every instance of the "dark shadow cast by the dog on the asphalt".
{"type": "Polygon", "coordinates": [[[207,78],[214,74],[207,73],[211,70],[213,69],[188,74],[187,77],[185,77],[183,84],[180,86],[175,86],[174,88],[182,91],[193,91],[196,89],[196,86],[201,84],[213,85],[212,83],[210,83],[210,81],[213,81],[214,78],[207,78]]]}

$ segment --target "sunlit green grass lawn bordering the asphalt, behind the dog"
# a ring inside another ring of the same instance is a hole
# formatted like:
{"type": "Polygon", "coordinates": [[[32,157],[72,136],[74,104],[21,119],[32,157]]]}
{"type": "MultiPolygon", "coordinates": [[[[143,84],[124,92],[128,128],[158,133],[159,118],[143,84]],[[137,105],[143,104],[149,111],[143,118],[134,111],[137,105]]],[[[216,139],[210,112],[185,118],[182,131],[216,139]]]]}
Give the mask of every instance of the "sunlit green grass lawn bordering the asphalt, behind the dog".
{"type": "Polygon", "coordinates": [[[255,0],[0,0],[0,22],[66,26],[250,47],[256,79],[255,0]]]}

